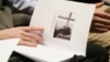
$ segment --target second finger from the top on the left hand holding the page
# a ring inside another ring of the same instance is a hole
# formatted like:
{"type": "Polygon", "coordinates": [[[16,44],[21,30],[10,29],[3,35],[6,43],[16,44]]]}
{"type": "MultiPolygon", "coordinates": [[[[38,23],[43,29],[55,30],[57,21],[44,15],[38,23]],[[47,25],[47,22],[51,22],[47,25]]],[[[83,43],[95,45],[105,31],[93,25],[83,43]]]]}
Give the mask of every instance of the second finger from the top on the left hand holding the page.
{"type": "Polygon", "coordinates": [[[42,37],[38,37],[38,35],[36,35],[36,34],[34,34],[34,33],[30,33],[30,32],[24,32],[24,33],[22,33],[22,35],[24,35],[24,37],[28,37],[28,38],[31,38],[31,39],[34,39],[36,42],[41,42],[41,41],[43,41],[43,38],[42,37]]]}

